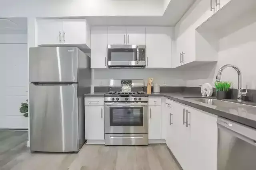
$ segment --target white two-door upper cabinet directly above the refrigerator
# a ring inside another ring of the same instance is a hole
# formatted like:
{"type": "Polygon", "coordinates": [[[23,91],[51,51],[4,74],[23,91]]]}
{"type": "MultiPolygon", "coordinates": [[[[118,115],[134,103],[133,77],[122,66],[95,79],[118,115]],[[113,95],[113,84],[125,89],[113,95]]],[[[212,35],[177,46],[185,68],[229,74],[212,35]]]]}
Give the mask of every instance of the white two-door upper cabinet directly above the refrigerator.
{"type": "Polygon", "coordinates": [[[85,19],[38,19],[38,45],[86,44],[90,48],[90,27],[85,19]]]}

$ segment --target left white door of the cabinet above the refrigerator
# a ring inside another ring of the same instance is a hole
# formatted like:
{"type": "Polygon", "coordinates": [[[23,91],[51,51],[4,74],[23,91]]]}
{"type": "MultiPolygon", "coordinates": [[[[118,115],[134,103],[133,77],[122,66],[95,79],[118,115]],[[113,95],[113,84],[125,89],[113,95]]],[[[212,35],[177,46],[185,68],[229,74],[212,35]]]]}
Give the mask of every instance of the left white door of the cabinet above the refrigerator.
{"type": "Polygon", "coordinates": [[[37,20],[38,45],[63,43],[63,20],[37,20]]]}

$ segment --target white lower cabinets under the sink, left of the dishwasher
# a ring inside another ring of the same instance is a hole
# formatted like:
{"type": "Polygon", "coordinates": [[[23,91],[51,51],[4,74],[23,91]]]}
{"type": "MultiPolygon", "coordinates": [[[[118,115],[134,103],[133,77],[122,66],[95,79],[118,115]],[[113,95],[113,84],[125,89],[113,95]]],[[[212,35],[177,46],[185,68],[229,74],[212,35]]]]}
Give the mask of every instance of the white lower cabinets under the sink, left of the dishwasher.
{"type": "Polygon", "coordinates": [[[176,102],[172,107],[166,144],[182,169],[217,170],[217,116],[176,102]]]}

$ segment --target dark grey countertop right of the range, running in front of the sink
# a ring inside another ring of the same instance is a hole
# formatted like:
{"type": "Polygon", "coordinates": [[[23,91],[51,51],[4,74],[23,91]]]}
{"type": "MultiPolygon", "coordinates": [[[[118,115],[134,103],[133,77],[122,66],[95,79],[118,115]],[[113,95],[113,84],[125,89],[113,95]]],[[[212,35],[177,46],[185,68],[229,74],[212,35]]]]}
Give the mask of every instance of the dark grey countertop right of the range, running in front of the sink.
{"type": "MultiPolygon", "coordinates": [[[[194,107],[196,109],[212,113],[214,115],[236,121],[238,123],[256,128],[256,107],[244,106],[244,107],[220,107],[197,102],[193,99],[184,97],[202,97],[200,94],[195,93],[152,93],[149,97],[166,97],[170,100],[178,103],[194,107]]],[[[234,100],[226,100],[233,102],[234,100]]]]}

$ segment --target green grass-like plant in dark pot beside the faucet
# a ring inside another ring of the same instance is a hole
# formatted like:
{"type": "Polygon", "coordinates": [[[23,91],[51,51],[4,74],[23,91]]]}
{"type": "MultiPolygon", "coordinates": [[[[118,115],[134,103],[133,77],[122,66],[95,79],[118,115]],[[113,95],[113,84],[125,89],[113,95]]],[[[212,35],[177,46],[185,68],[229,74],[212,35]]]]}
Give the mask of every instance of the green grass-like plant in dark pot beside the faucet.
{"type": "Polygon", "coordinates": [[[214,86],[216,88],[216,98],[222,100],[227,97],[227,93],[232,86],[232,82],[215,82],[214,86]]]}

